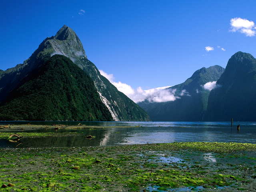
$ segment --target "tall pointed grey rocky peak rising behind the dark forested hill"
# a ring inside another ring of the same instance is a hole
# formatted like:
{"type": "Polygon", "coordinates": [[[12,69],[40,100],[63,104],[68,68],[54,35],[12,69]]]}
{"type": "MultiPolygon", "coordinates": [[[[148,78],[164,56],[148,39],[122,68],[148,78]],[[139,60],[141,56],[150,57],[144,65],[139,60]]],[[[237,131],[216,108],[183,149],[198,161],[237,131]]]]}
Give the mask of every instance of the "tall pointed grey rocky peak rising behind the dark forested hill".
{"type": "Polygon", "coordinates": [[[84,70],[94,81],[94,85],[102,102],[106,105],[113,120],[116,121],[148,121],[148,114],[119,92],[106,78],[104,78],[96,66],[87,59],[84,48],[76,33],[64,25],[55,36],[46,38],[38,49],[14,68],[0,71],[0,102],[2,102],[33,69],[40,69],[45,60],[54,54],[61,54],[70,58],[76,65],[84,70]]]}

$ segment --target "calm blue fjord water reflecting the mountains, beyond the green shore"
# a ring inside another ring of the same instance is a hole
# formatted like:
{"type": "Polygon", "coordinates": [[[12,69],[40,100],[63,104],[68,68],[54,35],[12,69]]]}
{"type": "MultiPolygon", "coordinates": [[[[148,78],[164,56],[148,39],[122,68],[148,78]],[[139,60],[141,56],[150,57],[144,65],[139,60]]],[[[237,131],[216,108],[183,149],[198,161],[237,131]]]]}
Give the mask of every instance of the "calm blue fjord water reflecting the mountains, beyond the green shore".
{"type": "MultiPolygon", "coordinates": [[[[0,124],[26,124],[28,122],[0,122],[0,124]]],[[[32,122],[32,124],[60,124],[60,122],[32,122]]],[[[59,129],[57,132],[76,132],[78,136],[22,138],[18,148],[115,146],[165,142],[239,142],[256,144],[256,122],[61,122],[78,123],[97,128],[59,129]],[[240,131],[237,125],[240,124],[240,131]],[[87,135],[96,138],[86,139],[87,135]]],[[[55,132],[54,129],[28,132],[55,132]]],[[[1,140],[0,147],[16,144],[1,140]]]]}

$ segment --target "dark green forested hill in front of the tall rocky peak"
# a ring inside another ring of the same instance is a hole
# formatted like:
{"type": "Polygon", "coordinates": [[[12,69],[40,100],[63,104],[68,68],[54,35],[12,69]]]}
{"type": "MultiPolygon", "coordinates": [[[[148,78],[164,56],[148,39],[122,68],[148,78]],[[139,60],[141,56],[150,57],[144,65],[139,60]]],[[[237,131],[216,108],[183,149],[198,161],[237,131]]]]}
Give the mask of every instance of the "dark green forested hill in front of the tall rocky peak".
{"type": "Polygon", "coordinates": [[[111,121],[94,82],[69,58],[54,55],[32,70],[0,106],[0,120],[111,121]]]}

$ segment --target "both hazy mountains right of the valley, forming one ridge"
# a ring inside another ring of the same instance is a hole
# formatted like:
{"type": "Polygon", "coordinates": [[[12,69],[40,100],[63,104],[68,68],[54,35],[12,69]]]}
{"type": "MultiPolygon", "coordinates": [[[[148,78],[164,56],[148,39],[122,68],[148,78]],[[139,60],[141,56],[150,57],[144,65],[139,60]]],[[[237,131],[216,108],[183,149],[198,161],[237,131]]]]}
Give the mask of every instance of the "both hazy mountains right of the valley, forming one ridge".
{"type": "Polygon", "coordinates": [[[251,54],[237,52],[225,70],[202,68],[168,90],[175,90],[176,100],[138,103],[153,121],[256,121],[256,59],[251,54]],[[211,91],[207,82],[214,85],[211,91]]]}

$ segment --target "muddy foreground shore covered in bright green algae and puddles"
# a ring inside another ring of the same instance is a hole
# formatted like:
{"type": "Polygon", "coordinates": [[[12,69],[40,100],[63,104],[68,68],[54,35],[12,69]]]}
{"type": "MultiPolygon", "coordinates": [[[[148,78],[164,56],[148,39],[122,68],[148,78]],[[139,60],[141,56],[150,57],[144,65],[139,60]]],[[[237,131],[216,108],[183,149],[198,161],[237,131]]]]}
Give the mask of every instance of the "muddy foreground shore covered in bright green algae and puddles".
{"type": "Polygon", "coordinates": [[[255,191],[256,145],[0,149],[1,191],[255,191]]]}

